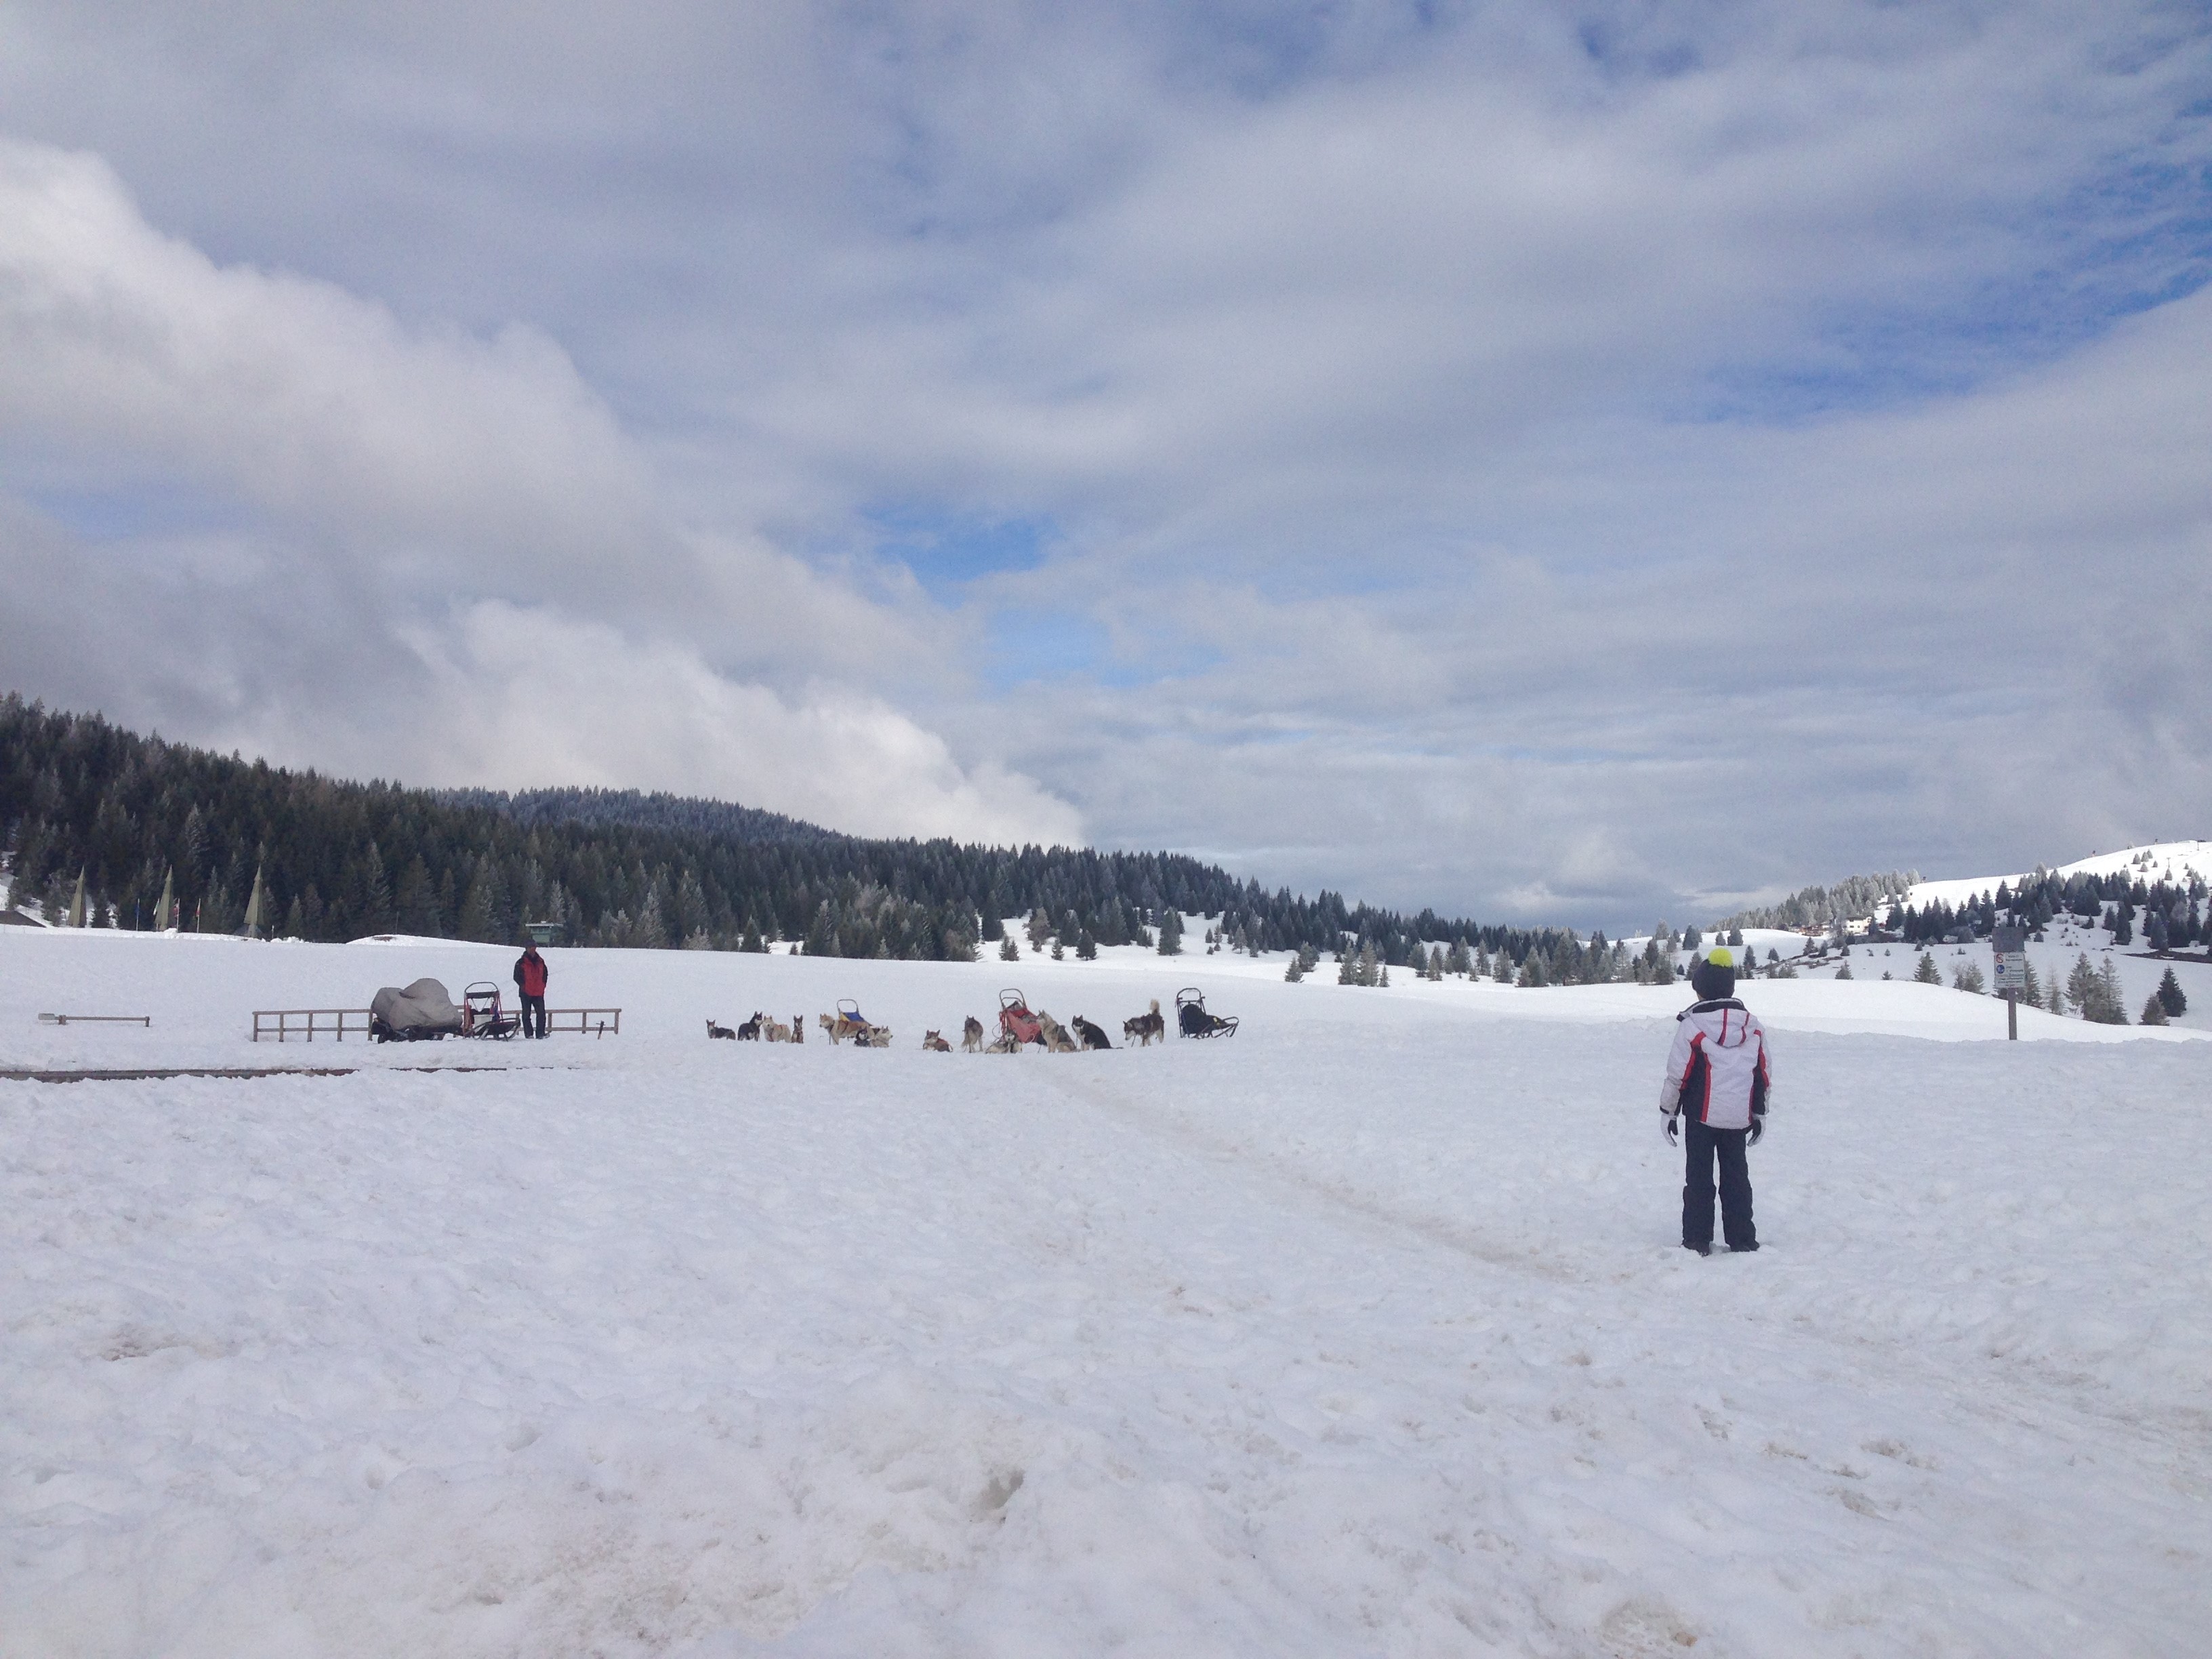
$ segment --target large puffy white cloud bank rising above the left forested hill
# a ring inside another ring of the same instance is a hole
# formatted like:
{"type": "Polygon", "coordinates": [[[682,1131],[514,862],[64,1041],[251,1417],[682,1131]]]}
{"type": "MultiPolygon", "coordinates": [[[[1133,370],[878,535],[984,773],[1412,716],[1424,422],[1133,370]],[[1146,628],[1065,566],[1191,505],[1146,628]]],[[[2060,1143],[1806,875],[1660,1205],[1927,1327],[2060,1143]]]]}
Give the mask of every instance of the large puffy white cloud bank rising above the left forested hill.
{"type": "Polygon", "coordinates": [[[927,677],[942,622],[672,524],[637,447],[526,327],[409,330],[330,283],[219,268],[148,228],[97,159],[4,144],[0,363],[0,442],[49,507],[15,504],[13,588],[44,595],[9,626],[11,659],[51,677],[31,690],[420,781],[1079,836],[1062,801],[962,765],[867,690],[927,677]],[[51,522],[77,495],[159,515],[177,489],[230,526],[102,542],[51,522]]]}

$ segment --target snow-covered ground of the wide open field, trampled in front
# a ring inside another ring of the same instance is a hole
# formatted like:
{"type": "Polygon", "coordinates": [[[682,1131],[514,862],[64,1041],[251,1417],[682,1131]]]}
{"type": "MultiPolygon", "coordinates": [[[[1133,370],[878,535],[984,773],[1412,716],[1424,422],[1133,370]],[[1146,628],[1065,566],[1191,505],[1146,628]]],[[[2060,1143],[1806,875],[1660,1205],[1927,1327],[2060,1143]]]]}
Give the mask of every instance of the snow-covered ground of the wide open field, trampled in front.
{"type": "Polygon", "coordinates": [[[1701,1261],[1681,987],[555,951],[622,1037],[257,1048],[513,953],[0,931],[0,1066],[365,1066],[0,1082],[0,1655],[2203,1652],[2212,1044],[1891,949],[1747,987],[1701,1261]],[[920,1053],[1000,984],[1245,1024],[920,1053]]]}

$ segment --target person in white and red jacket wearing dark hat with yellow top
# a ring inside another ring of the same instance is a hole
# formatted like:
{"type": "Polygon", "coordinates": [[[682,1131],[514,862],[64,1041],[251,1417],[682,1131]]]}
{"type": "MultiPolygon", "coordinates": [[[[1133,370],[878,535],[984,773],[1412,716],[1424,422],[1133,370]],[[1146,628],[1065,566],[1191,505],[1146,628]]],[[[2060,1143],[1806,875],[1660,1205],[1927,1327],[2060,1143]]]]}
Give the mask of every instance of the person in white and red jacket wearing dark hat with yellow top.
{"type": "Polygon", "coordinates": [[[1712,1166],[1719,1161],[1721,1237],[1730,1250],[1756,1250],[1743,1148],[1756,1146],[1767,1128],[1767,1033],[1736,1000],[1736,958],[1728,947],[1690,969],[1690,989],[1697,1002],[1674,1015],[1674,1048],[1659,1086],[1668,1146],[1677,1130],[1683,1144],[1681,1248],[1712,1254],[1712,1166]]]}

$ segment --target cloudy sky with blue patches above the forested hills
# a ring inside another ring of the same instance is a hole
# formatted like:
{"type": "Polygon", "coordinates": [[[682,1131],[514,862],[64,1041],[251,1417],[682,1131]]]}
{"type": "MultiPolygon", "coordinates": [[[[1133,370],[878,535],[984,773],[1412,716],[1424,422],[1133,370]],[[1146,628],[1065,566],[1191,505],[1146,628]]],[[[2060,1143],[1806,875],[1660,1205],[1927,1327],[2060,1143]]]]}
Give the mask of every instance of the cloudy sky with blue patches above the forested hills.
{"type": "Polygon", "coordinates": [[[0,0],[0,681],[1621,929],[2212,834],[2203,4],[0,0]]]}

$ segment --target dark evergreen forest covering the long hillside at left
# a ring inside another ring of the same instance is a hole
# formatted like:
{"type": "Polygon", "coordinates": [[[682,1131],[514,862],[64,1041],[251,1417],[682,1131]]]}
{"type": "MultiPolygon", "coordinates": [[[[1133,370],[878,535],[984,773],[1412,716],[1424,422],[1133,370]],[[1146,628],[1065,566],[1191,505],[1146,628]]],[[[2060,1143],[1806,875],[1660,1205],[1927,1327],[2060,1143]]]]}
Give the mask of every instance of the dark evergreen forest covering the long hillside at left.
{"type": "Polygon", "coordinates": [[[0,697],[0,849],[15,900],[62,916],[82,880],[93,927],[239,931],[259,876],[268,931],[303,940],[511,942],[544,920],[586,947],[962,960],[1002,938],[1002,918],[1026,918],[1033,947],[1095,949],[1152,945],[1172,909],[1219,918],[1208,942],[1252,953],[1427,967],[1429,940],[1515,964],[1584,956],[1564,929],[1270,894],[1166,852],[878,841],[622,790],[349,783],[13,692],[0,697]]]}

